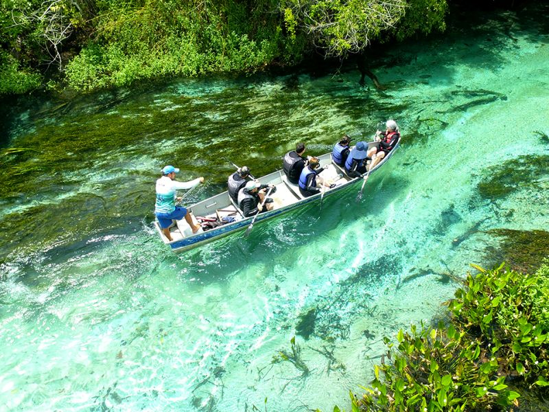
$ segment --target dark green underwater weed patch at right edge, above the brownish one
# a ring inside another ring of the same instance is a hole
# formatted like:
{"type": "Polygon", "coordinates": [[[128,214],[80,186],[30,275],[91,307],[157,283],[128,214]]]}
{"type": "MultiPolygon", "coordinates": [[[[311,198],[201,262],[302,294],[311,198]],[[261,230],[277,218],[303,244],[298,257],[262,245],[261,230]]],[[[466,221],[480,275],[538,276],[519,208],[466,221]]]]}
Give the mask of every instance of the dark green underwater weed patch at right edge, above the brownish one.
{"type": "Polygon", "coordinates": [[[483,198],[496,200],[516,190],[544,190],[541,185],[549,174],[549,156],[521,155],[517,159],[491,166],[478,183],[478,192],[483,198]]]}

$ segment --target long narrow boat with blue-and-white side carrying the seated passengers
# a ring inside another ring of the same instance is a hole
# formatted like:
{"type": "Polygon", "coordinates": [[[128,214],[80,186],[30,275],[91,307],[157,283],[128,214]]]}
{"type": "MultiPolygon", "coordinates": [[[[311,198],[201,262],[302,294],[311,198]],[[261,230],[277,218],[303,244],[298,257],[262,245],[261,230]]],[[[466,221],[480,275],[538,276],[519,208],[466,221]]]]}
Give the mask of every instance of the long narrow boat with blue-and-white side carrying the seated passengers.
{"type": "MultiPolygon", "coordinates": [[[[370,174],[377,172],[379,168],[393,157],[399,144],[400,139],[397,141],[395,148],[388,152],[388,155],[375,165],[375,168],[371,170],[370,174]]],[[[369,142],[368,148],[371,148],[372,146],[377,146],[377,142],[369,142]]],[[[333,163],[331,161],[331,153],[319,156],[318,159],[320,160],[320,166],[325,168],[319,176],[323,177],[325,181],[334,183],[334,187],[325,187],[325,198],[327,196],[333,196],[336,192],[340,192],[345,187],[362,182],[362,178],[351,178],[347,176],[340,166],[333,163]]],[[[257,180],[259,180],[261,184],[272,184],[277,187],[277,190],[269,196],[274,203],[273,209],[257,215],[254,225],[285,214],[286,212],[302,207],[303,205],[320,201],[320,193],[309,197],[303,197],[299,192],[298,185],[290,183],[281,170],[267,174],[257,180]]],[[[156,220],[154,221],[154,227],[156,227],[156,230],[159,232],[161,239],[165,244],[169,245],[174,252],[186,251],[207,242],[211,242],[212,240],[227,236],[230,233],[242,231],[246,229],[254,219],[254,216],[248,218],[243,216],[242,211],[233,203],[228,192],[223,192],[212,196],[211,198],[207,198],[205,201],[200,201],[187,207],[187,209],[191,211],[194,222],[200,222],[204,229],[200,229],[197,233],[192,233],[191,228],[187,225],[185,219],[175,220],[174,224],[170,227],[170,233],[173,239],[170,241],[163,235],[159,223],[156,220]],[[207,225],[211,225],[209,222],[215,222],[215,225],[218,226],[207,229],[207,225]]]]}

